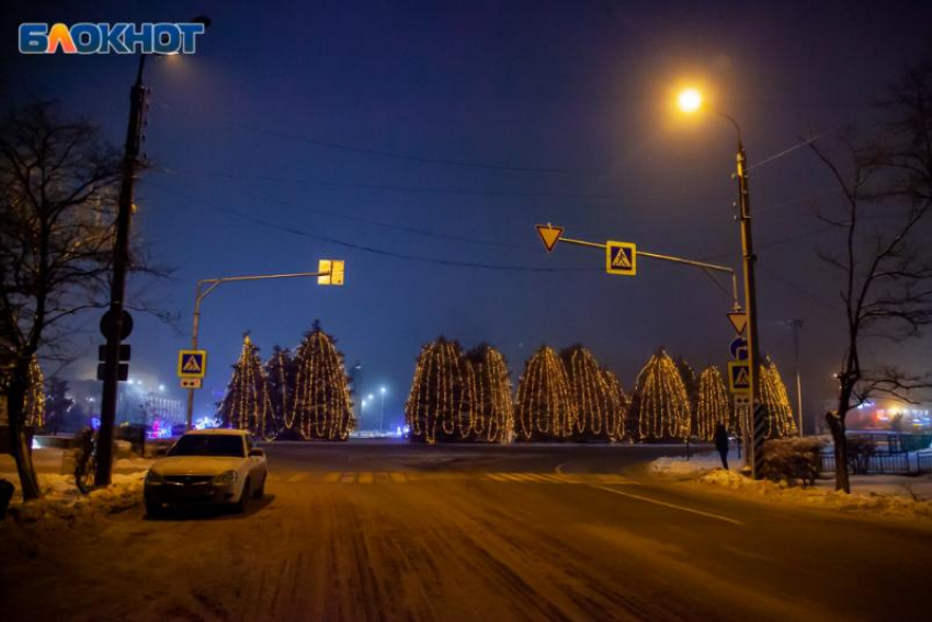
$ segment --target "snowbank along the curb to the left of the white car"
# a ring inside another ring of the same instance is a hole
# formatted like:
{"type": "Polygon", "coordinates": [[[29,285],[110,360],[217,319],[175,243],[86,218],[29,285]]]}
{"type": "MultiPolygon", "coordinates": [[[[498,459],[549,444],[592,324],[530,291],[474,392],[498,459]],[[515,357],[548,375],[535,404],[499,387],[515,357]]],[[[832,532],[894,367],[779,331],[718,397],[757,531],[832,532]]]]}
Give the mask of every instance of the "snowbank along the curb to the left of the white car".
{"type": "Polygon", "coordinates": [[[111,486],[82,495],[70,475],[39,475],[43,498],[11,504],[9,516],[23,527],[42,523],[44,528],[55,528],[116,514],[143,502],[145,476],[141,471],[116,473],[111,486]]]}

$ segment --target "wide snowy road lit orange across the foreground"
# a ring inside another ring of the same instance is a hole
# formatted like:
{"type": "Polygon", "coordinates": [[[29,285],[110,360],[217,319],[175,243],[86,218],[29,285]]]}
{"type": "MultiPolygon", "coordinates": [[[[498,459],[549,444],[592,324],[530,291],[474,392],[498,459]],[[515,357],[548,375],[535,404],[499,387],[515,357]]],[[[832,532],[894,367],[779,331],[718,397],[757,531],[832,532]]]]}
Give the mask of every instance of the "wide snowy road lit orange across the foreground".
{"type": "Polygon", "coordinates": [[[266,447],[246,515],[0,545],[7,620],[894,620],[932,538],[650,475],[648,446],[266,447]],[[12,589],[11,589],[12,588],[12,589]]]}

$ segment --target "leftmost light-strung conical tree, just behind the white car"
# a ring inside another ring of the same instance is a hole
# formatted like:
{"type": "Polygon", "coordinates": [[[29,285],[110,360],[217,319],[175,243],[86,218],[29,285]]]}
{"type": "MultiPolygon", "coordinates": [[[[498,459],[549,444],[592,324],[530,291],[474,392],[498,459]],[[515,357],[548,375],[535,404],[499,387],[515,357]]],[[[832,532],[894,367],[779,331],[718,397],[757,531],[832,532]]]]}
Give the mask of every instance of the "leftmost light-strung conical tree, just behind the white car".
{"type": "Polygon", "coordinates": [[[217,416],[225,426],[248,429],[265,438],[272,418],[269,380],[259,359],[259,347],[252,343],[248,333],[242,337],[242,349],[232,368],[232,378],[227,384],[217,416]]]}

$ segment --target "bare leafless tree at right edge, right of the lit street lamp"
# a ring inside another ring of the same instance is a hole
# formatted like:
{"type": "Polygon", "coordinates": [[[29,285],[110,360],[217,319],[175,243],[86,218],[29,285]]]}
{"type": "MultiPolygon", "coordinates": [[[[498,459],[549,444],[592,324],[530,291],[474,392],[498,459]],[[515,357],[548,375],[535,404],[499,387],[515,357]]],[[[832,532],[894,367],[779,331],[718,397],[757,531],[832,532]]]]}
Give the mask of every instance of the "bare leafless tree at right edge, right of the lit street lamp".
{"type": "Polygon", "coordinates": [[[875,141],[848,142],[846,157],[810,148],[838,183],[838,211],[820,211],[842,240],[820,257],[842,276],[846,347],[838,407],[826,415],[836,448],[836,488],[851,492],[845,415],[872,396],[912,402],[930,378],[867,360],[864,342],[905,341],[932,324],[932,65],[911,71],[882,104],[886,120],[875,141]]]}

